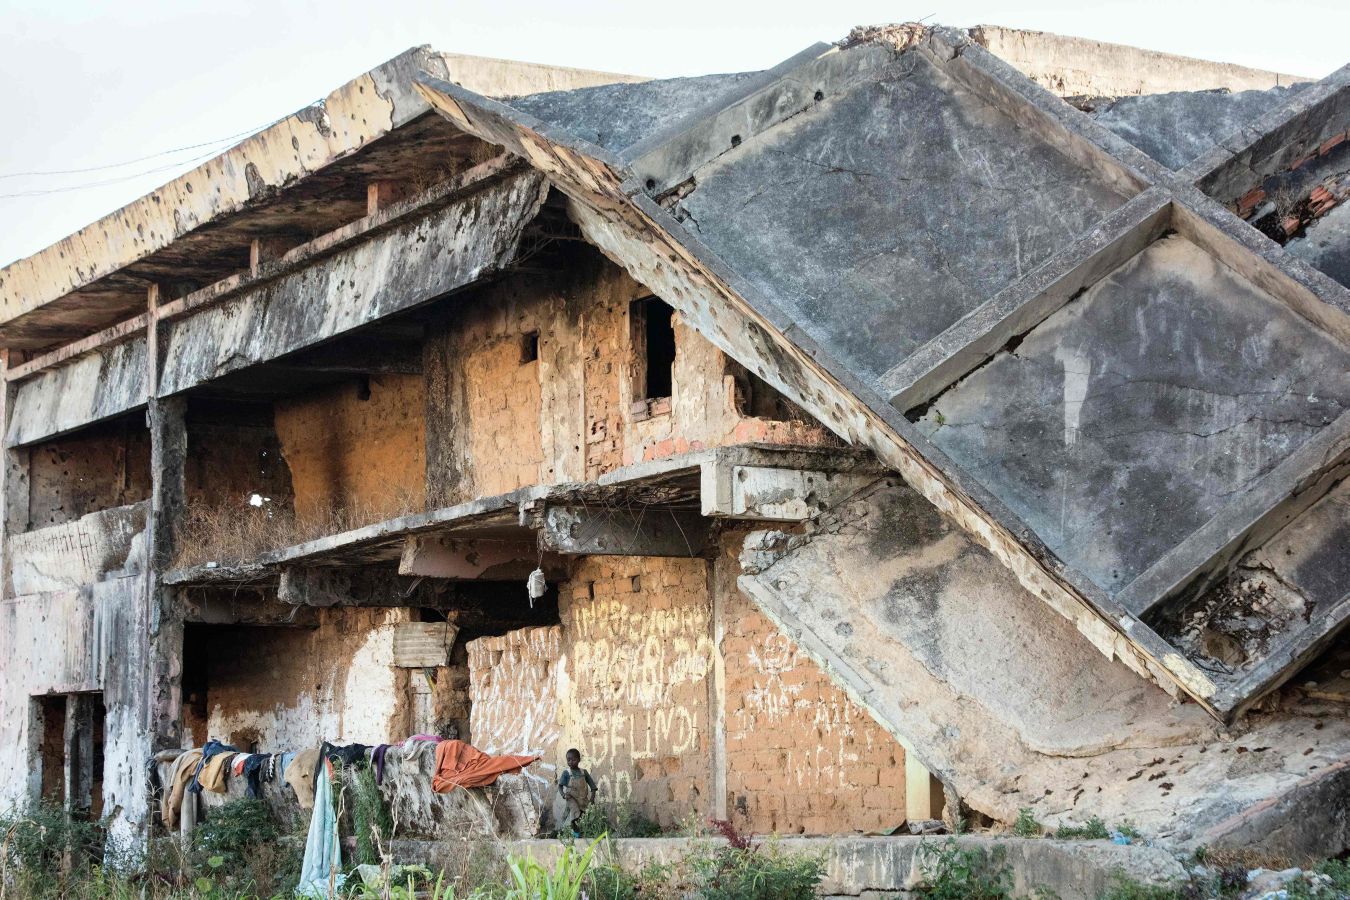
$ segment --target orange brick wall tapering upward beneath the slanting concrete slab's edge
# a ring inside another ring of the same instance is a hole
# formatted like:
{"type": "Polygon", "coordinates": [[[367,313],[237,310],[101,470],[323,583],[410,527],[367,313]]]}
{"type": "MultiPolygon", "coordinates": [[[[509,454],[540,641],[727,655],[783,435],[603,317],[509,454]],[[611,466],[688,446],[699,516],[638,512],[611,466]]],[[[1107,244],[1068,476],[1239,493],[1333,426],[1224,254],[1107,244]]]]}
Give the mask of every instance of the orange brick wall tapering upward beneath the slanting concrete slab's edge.
{"type": "Polygon", "coordinates": [[[728,815],[761,834],[895,827],[905,749],[740,592],[738,545],[740,536],[724,537],[716,573],[728,815]]]}

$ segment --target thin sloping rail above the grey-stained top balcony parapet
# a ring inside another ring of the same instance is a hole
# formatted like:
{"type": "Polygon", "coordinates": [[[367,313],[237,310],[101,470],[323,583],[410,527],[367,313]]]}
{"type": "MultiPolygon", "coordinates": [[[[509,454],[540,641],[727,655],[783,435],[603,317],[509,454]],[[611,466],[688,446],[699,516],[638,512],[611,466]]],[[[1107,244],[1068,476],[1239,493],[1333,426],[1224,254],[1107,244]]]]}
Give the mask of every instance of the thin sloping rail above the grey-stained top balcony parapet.
{"type": "Polygon", "coordinates": [[[7,372],[11,382],[22,382],[42,374],[46,370],[69,364],[70,360],[86,356],[100,349],[116,345],[139,336],[155,317],[161,322],[180,318],[197,309],[219,304],[250,290],[255,290],[267,283],[289,275],[306,266],[323,260],[325,256],[336,254],[346,247],[379,235],[396,225],[400,225],[417,216],[425,216],[446,205],[463,198],[464,196],[489,188],[493,184],[508,178],[522,170],[525,163],[505,154],[482,162],[466,171],[462,171],[446,181],[427,189],[425,192],[382,208],[371,216],[364,216],[354,223],[343,225],[325,235],[320,235],[310,242],[300,244],[284,255],[265,260],[256,273],[240,271],[228,278],[223,278],[212,285],[207,285],[178,300],[158,306],[154,312],[140,313],[127,321],[111,325],[100,332],[94,332],[57,349],[35,356],[34,359],[15,366],[7,372]]]}

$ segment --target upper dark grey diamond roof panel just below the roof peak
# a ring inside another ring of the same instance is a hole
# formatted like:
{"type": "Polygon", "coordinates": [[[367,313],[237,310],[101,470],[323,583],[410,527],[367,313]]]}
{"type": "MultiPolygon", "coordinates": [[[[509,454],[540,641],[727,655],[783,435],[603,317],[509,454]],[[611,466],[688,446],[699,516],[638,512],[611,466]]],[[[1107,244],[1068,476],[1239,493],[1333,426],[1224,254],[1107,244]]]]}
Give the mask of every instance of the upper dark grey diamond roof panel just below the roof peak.
{"type": "Polygon", "coordinates": [[[871,376],[1125,200],[914,51],[695,181],[686,225],[871,376]]]}

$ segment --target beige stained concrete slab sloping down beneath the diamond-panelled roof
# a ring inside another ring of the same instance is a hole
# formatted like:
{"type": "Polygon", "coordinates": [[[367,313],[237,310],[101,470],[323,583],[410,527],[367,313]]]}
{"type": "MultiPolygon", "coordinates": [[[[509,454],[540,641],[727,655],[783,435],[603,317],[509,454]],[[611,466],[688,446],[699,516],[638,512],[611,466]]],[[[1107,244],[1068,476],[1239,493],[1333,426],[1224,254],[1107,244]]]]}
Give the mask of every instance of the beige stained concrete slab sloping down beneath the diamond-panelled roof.
{"type": "Polygon", "coordinates": [[[1234,739],[1103,658],[898,479],[802,534],[752,534],[741,561],[755,603],[906,752],[995,819],[1091,812],[1212,845],[1235,822],[1269,826],[1342,789],[1343,715],[1291,704],[1253,716],[1234,739]],[[1272,796],[1288,808],[1268,815],[1272,796]]]}

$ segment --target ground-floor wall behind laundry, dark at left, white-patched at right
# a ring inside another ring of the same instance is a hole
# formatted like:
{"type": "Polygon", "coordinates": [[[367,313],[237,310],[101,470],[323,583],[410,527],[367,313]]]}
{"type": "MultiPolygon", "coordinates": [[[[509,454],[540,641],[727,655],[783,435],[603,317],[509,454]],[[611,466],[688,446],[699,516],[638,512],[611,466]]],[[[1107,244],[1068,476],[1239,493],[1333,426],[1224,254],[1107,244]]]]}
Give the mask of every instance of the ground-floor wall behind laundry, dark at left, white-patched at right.
{"type": "Polygon", "coordinates": [[[212,627],[209,737],[269,752],[405,737],[406,675],[393,646],[409,618],[405,609],[333,607],[317,611],[317,627],[212,627]]]}

